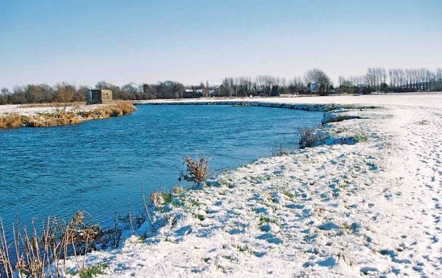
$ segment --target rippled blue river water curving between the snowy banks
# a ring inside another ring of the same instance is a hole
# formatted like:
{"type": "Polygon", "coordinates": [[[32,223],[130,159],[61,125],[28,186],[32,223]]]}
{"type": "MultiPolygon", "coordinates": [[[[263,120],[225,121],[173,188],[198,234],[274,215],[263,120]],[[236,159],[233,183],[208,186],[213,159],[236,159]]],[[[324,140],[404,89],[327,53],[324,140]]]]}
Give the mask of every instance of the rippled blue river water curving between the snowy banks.
{"type": "MultiPolygon", "coordinates": [[[[219,173],[297,147],[298,127],[322,112],[242,106],[137,106],[131,115],[77,125],[0,130],[0,217],[69,218],[86,210],[96,221],[142,209],[148,194],[171,188],[183,157],[204,154],[219,173]]],[[[184,185],[184,183],[182,183],[184,185]]]]}

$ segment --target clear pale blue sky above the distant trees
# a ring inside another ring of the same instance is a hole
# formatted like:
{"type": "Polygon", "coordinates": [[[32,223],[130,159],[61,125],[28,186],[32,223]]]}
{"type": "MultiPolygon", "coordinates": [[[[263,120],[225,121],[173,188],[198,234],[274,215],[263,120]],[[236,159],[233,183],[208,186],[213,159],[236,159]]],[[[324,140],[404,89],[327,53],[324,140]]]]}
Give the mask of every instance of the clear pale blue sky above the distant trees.
{"type": "Polygon", "coordinates": [[[442,0],[0,1],[0,86],[442,66],[442,0]]]}

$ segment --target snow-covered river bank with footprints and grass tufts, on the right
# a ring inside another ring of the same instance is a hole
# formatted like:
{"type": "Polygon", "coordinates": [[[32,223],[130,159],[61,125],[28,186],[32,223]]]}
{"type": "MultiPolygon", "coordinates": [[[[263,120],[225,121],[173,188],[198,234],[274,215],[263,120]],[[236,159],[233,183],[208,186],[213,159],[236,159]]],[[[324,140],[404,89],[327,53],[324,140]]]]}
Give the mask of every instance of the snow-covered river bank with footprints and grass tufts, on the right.
{"type": "MultiPolygon", "coordinates": [[[[168,223],[160,232],[90,253],[88,265],[106,263],[104,277],[440,277],[442,95],[384,97],[336,100],[384,106],[325,124],[334,138],[360,136],[358,144],[224,172],[158,212],[168,223]]],[[[273,100],[282,102],[262,101],[273,100]]]]}

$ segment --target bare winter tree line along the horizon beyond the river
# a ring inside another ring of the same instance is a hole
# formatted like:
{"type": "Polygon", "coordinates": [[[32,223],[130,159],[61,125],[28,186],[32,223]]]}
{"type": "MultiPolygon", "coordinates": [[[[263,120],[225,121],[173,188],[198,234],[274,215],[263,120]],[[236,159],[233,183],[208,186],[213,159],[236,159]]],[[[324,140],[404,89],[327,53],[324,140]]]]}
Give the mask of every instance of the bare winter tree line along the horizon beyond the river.
{"type": "MultiPolygon", "coordinates": [[[[170,98],[199,97],[202,89],[210,89],[215,97],[276,96],[296,93],[327,95],[329,93],[372,93],[442,91],[442,68],[430,71],[427,68],[367,68],[360,76],[338,77],[335,87],[330,77],[322,70],[313,68],[291,80],[271,75],[256,77],[225,77],[219,86],[208,82],[184,86],[176,81],[163,81],[156,84],[128,83],[115,86],[106,81],[95,84],[95,89],[111,89],[115,100],[151,100],[170,98]],[[189,93],[190,91],[190,93],[189,93]]],[[[16,86],[12,91],[0,89],[0,104],[31,104],[50,102],[85,102],[88,86],[74,86],[61,82],[55,86],[47,84],[28,84],[16,86]]]]}

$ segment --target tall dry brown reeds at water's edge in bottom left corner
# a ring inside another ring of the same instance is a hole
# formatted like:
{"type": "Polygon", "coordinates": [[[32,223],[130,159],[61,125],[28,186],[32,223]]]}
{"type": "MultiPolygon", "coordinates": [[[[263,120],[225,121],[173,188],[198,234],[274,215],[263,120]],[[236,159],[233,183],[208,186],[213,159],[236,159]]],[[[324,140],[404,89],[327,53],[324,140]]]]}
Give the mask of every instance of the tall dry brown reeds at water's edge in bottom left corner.
{"type": "Polygon", "coordinates": [[[41,232],[37,232],[36,227],[35,221],[32,221],[30,230],[26,225],[13,225],[14,242],[9,243],[0,219],[1,277],[15,277],[16,270],[25,277],[59,277],[61,267],[66,271],[66,258],[69,256],[74,256],[77,267],[82,269],[85,267],[86,252],[95,250],[96,245],[115,245],[113,237],[117,234],[119,241],[121,235],[117,228],[100,229],[92,217],[84,212],[77,212],[68,223],[47,219],[42,223],[41,232]],[[15,264],[11,260],[13,252],[15,264]],[[79,255],[84,255],[82,260],[79,255]],[[48,267],[53,262],[55,268],[48,267]]]}

